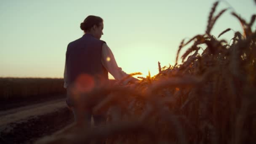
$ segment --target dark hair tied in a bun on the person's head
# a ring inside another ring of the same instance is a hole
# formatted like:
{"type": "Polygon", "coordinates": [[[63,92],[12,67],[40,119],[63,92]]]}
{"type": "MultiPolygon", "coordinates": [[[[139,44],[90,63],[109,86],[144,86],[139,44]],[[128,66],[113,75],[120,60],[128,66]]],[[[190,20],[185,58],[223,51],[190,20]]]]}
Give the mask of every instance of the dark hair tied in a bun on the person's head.
{"type": "Polygon", "coordinates": [[[80,24],[80,28],[84,32],[87,32],[91,29],[91,27],[93,27],[94,24],[99,27],[101,22],[103,22],[103,19],[101,19],[99,16],[87,16],[85,20],[80,24]]]}

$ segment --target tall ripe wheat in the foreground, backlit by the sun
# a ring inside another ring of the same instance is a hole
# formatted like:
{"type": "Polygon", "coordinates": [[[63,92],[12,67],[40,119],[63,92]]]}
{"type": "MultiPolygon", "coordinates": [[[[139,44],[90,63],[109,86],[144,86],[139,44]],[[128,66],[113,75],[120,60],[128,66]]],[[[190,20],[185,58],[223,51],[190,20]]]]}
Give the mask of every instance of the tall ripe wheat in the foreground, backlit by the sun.
{"type": "Polygon", "coordinates": [[[149,74],[136,84],[87,94],[83,103],[93,101],[95,113],[108,113],[106,125],[70,128],[37,143],[255,144],[256,32],[251,26],[256,15],[246,22],[232,13],[243,34],[235,32],[228,43],[211,35],[216,20],[226,11],[214,16],[217,5],[213,5],[205,34],[182,40],[177,59],[180,50],[193,43],[181,56],[182,64],[162,68],[159,63],[159,74],[153,77],[149,74]],[[202,44],[207,48],[200,54],[202,44]]]}

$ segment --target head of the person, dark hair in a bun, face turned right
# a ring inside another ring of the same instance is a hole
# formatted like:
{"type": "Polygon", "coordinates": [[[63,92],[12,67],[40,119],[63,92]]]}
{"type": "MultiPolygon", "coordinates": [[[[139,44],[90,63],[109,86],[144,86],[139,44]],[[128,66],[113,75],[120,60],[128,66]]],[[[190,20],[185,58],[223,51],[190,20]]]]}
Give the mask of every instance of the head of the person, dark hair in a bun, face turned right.
{"type": "Polygon", "coordinates": [[[101,38],[101,35],[103,35],[103,19],[99,16],[87,16],[85,20],[80,24],[80,28],[85,33],[90,33],[97,39],[101,38]]]}

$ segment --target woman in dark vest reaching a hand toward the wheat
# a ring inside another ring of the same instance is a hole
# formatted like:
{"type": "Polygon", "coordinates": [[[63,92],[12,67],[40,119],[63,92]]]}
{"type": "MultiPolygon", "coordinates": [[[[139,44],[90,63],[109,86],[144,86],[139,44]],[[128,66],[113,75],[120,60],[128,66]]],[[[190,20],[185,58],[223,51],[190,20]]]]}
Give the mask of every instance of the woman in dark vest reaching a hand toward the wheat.
{"type": "MultiPolygon", "coordinates": [[[[75,89],[83,92],[91,91],[96,86],[109,83],[108,72],[120,80],[128,74],[117,66],[114,55],[106,42],[100,40],[103,35],[103,19],[99,16],[88,16],[81,24],[83,37],[71,42],[67,46],[64,69],[64,88],[67,88],[67,104],[71,107],[77,125],[84,123],[91,125],[91,109],[79,110],[80,98],[75,96],[75,89]]],[[[135,82],[130,77],[128,81],[135,82]]],[[[126,82],[128,82],[126,81],[126,82]]],[[[93,115],[94,124],[104,123],[104,115],[93,115]]]]}

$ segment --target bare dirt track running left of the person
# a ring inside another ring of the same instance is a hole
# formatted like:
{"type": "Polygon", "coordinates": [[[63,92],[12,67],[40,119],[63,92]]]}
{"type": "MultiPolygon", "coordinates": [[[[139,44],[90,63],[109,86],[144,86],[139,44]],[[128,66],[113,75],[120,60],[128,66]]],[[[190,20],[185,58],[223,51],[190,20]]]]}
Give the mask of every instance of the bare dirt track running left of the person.
{"type": "Polygon", "coordinates": [[[27,144],[73,122],[65,99],[0,111],[0,144],[27,144]]]}

